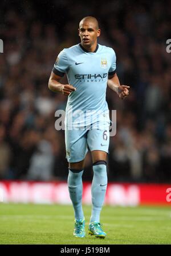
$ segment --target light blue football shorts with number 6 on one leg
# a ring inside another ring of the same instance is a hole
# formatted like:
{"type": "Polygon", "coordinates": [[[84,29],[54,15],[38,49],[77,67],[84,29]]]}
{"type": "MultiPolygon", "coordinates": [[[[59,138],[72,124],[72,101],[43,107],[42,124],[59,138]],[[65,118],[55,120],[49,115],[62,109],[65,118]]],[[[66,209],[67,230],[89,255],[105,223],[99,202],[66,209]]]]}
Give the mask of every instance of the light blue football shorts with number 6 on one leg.
{"type": "Polygon", "coordinates": [[[66,158],[69,163],[82,161],[90,151],[100,150],[108,153],[109,125],[98,129],[65,129],[66,158]]]}

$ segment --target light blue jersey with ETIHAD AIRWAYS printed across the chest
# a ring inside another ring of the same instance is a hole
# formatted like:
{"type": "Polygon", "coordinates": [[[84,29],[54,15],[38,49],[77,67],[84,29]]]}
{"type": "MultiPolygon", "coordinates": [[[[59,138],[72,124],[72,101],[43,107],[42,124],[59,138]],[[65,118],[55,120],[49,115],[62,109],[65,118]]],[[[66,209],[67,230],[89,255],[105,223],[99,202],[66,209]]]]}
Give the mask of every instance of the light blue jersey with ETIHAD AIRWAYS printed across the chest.
{"type": "Polygon", "coordinates": [[[114,74],[116,54],[112,48],[97,44],[95,52],[87,52],[81,44],[63,49],[52,71],[67,74],[68,84],[76,91],[68,96],[65,124],[67,127],[87,127],[109,120],[106,101],[108,74],[114,74]]]}

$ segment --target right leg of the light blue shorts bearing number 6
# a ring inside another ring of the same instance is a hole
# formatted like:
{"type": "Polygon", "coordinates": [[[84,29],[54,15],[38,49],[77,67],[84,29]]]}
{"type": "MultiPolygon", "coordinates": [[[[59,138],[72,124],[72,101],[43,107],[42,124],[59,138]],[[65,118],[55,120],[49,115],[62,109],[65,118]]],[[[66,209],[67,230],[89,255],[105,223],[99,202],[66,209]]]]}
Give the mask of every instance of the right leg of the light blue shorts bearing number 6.
{"type": "MultiPolygon", "coordinates": [[[[90,151],[104,151],[108,153],[109,150],[109,128],[91,129],[87,133],[87,143],[90,151]]],[[[100,153],[93,153],[93,155],[100,153]]],[[[105,153],[102,153],[105,155],[105,153]]],[[[101,156],[101,155],[100,155],[101,156]]],[[[101,159],[102,160],[102,159],[101,159]]]]}

